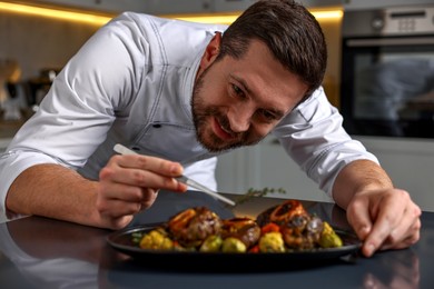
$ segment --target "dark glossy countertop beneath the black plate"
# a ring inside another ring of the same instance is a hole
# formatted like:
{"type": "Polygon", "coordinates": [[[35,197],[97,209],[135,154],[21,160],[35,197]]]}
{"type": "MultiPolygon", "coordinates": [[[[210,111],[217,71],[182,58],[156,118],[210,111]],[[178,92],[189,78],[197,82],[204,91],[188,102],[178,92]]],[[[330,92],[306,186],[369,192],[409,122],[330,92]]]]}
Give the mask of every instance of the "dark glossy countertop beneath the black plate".
{"type": "MultiPolygon", "coordinates": [[[[255,199],[237,207],[235,213],[256,216],[282,201],[255,199]]],[[[333,203],[305,201],[304,205],[333,226],[348,228],[345,212],[333,203]]],[[[233,216],[203,193],[160,192],[157,203],[131,226],[165,221],[175,211],[195,206],[208,206],[223,218],[233,216]],[[169,207],[174,201],[176,206],[169,207]]],[[[421,240],[408,249],[352,261],[310,260],[304,266],[283,262],[282,268],[268,266],[273,260],[258,256],[248,270],[237,268],[236,259],[213,265],[213,258],[200,266],[174,258],[174,262],[181,265],[176,267],[179,269],[155,267],[146,259],[134,260],[116,251],[106,239],[110,233],[40,217],[1,223],[1,288],[434,288],[434,212],[422,215],[421,240]],[[208,266],[214,269],[207,269],[208,266]]]]}

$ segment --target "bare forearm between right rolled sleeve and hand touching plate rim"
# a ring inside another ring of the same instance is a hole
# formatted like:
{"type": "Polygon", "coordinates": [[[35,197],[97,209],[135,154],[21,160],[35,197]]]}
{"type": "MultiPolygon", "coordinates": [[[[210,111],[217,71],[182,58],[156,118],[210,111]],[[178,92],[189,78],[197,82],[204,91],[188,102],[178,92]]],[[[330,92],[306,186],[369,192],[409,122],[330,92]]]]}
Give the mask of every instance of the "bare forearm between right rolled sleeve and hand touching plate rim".
{"type": "Polygon", "coordinates": [[[337,176],[333,186],[333,198],[346,209],[353,196],[363,190],[393,188],[387,173],[371,160],[348,163],[337,176]]]}

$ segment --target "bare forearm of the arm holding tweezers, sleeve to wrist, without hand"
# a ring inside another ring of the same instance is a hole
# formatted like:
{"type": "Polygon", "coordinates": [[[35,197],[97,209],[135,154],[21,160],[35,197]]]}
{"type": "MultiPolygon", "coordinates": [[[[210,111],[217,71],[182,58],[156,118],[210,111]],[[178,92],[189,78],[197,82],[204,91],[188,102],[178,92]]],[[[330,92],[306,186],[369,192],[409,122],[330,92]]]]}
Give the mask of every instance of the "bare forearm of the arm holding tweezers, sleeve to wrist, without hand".
{"type": "Polygon", "coordinates": [[[58,165],[38,165],[23,171],[7,196],[8,210],[83,225],[100,226],[96,211],[98,183],[58,165]]]}

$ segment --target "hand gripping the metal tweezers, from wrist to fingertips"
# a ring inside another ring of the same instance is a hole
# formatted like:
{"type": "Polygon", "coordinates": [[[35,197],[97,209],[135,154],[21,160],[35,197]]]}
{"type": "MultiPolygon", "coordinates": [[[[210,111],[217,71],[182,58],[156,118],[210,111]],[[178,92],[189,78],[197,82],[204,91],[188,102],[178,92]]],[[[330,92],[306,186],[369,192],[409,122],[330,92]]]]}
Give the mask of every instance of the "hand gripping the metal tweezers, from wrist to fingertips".
{"type": "Polygon", "coordinates": [[[135,213],[149,208],[159,189],[186,191],[175,177],[183,167],[172,161],[140,156],[114,156],[99,173],[97,209],[112,228],[122,228],[135,213]]]}

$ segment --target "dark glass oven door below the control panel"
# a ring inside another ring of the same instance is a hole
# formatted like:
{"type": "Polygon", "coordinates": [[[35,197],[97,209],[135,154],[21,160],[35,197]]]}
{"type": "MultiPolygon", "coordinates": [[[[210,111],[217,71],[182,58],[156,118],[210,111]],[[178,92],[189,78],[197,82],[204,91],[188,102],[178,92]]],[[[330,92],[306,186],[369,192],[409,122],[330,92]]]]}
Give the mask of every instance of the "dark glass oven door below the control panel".
{"type": "Polygon", "coordinates": [[[348,133],[434,138],[434,34],[344,38],[342,53],[348,133]]]}

